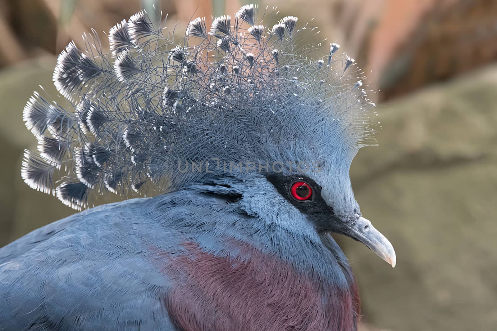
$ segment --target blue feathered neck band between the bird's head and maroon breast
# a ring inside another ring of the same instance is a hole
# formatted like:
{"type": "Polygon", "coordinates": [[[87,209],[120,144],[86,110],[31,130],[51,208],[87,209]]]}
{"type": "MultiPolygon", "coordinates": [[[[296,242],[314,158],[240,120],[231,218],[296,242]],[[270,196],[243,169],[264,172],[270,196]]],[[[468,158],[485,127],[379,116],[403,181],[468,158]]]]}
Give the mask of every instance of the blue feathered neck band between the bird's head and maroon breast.
{"type": "Polygon", "coordinates": [[[300,213],[285,215],[284,208],[276,210],[272,206],[273,213],[284,220],[266,217],[264,210],[257,210],[241,197],[240,191],[229,186],[202,185],[163,196],[159,201],[161,205],[188,204],[198,208],[198,213],[206,213],[201,224],[186,219],[187,223],[174,225],[192,227],[190,233],[198,236],[191,242],[206,251],[245,259],[247,253],[240,246],[246,243],[291,264],[302,275],[340,287],[355,286],[350,265],[330,234],[318,233],[300,213]]]}

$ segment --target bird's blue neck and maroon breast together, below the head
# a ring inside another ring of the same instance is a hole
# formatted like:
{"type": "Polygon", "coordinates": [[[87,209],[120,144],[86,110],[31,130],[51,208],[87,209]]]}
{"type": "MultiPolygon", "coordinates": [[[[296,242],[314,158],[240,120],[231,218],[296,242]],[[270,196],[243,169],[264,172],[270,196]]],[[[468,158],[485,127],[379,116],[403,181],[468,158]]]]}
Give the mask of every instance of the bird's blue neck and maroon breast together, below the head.
{"type": "Polygon", "coordinates": [[[236,321],[212,321],[209,330],[287,330],[289,326],[298,326],[298,330],[356,330],[357,286],[333,238],[280,227],[238,204],[236,195],[223,192],[214,194],[209,189],[208,194],[182,192],[164,198],[170,199],[163,201],[164,206],[175,201],[175,205],[189,204],[188,209],[205,213],[201,224],[189,218],[182,225],[176,224],[183,233],[192,235],[181,239],[180,253],[174,258],[161,255],[164,269],[188,275],[188,283],[179,277],[170,293],[171,318],[177,315],[181,319],[181,311],[192,309],[205,313],[202,319],[215,316],[219,310],[242,315],[250,311],[250,319],[238,316],[236,321]],[[184,231],[185,227],[192,229],[184,231]],[[207,291],[206,297],[215,305],[196,301],[200,291],[207,291]],[[178,300],[173,300],[175,295],[178,300]],[[178,307],[173,301],[186,306],[178,307]],[[238,320],[240,325],[233,324],[238,320]],[[225,325],[233,328],[223,329],[225,325]]]}

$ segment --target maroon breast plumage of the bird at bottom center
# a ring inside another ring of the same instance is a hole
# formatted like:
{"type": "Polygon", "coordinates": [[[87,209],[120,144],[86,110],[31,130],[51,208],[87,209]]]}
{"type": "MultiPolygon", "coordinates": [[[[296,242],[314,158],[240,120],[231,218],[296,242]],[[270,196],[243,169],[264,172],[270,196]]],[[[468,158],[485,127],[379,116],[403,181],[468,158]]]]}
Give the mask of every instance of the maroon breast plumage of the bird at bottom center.
{"type": "MultiPolygon", "coordinates": [[[[347,287],[298,272],[275,255],[237,242],[245,259],[204,252],[162,260],[173,277],[165,306],[180,331],[351,331],[359,318],[353,276],[347,287]]],[[[340,270],[341,272],[341,270],[340,270]]]]}

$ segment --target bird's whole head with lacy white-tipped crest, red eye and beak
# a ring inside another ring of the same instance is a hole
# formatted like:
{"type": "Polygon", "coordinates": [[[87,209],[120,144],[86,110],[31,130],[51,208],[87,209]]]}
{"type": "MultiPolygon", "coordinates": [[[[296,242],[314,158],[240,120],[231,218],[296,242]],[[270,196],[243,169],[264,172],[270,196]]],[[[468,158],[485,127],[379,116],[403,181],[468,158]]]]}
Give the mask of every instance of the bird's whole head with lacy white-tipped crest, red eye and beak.
{"type": "Polygon", "coordinates": [[[269,28],[256,16],[245,5],[210,30],[199,17],[175,41],[141,11],[110,30],[107,54],[96,35],[83,51],[71,42],[53,80],[74,110],[31,97],[24,121],[40,145],[23,179],[78,209],[95,193],[233,187],[262,218],[350,236],[394,266],[349,178],[376,125],[363,73],[336,43],[297,47],[318,33],[297,17],[269,28]]]}

